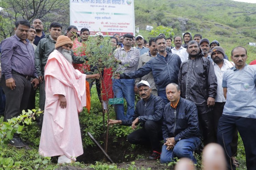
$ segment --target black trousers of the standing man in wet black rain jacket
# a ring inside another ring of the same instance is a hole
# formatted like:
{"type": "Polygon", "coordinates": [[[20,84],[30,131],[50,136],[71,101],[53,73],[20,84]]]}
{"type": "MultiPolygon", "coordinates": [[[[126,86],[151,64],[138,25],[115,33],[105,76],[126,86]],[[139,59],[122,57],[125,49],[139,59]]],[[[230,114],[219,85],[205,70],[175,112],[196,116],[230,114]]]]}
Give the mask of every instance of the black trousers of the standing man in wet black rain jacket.
{"type": "Polygon", "coordinates": [[[214,142],[212,110],[207,106],[197,106],[199,128],[203,135],[204,146],[214,142]]]}

